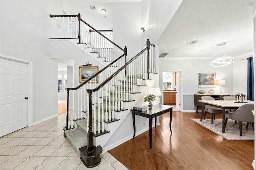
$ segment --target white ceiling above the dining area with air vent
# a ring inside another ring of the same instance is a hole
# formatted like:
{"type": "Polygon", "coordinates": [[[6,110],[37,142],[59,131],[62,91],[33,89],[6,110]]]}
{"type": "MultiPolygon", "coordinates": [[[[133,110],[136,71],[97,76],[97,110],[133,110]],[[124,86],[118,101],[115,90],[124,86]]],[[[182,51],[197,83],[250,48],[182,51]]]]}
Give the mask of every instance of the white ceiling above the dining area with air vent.
{"type": "Polygon", "coordinates": [[[252,0],[183,0],[157,43],[166,57],[212,58],[223,41],[232,57],[252,55],[252,0]]]}

